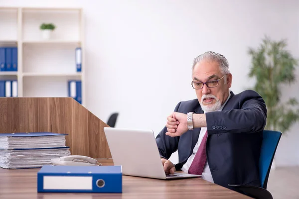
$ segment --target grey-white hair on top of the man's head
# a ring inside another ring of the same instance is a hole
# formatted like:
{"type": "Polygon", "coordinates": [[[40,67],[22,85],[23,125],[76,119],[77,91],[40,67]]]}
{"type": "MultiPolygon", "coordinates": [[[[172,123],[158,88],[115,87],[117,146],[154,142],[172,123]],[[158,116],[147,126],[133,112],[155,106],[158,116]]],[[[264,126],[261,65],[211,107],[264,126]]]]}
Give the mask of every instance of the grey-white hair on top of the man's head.
{"type": "MultiPolygon", "coordinates": [[[[195,65],[203,60],[218,62],[222,75],[226,75],[226,74],[230,73],[227,59],[223,55],[221,55],[219,53],[212,52],[212,51],[205,52],[205,53],[198,55],[197,57],[194,58],[192,72],[194,70],[195,65]]],[[[226,78],[225,78],[225,80],[226,80],[226,78]]]]}

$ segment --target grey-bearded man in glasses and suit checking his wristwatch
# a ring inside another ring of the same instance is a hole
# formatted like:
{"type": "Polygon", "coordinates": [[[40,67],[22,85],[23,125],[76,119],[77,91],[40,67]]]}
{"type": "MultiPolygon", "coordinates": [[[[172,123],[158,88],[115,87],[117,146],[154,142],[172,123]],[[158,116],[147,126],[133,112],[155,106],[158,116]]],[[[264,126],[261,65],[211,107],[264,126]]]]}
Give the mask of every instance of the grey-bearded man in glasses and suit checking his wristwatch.
{"type": "Polygon", "coordinates": [[[232,74],[223,55],[194,59],[191,85],[197,99],[179,102],[156,137],[164,171],[202,175],[212,183],[261,186],[259,157],[267,109],[251,90],[230,91],[232,74]],[[178,150],[179,163],[168,160],[178,150]]]}

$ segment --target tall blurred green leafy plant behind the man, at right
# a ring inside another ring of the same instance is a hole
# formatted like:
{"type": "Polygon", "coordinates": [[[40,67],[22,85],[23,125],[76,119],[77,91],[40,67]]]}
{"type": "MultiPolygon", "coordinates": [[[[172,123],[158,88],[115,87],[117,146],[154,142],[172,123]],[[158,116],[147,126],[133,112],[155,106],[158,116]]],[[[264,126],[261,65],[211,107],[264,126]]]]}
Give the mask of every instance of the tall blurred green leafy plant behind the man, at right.
{"type": "Polygon", "coordinates": [[[295,98],[281,101],[281,86],[296,82],[294,72],[298,66],[298,60],[286,46],[285,40],[272,41],[266,36],[258,49],[249,49],[252,64],[249,77],[256,78],[253,90],[263,97],[267,106],[265,129],[282,133],[299,120],[298,101],[295,98]]]}

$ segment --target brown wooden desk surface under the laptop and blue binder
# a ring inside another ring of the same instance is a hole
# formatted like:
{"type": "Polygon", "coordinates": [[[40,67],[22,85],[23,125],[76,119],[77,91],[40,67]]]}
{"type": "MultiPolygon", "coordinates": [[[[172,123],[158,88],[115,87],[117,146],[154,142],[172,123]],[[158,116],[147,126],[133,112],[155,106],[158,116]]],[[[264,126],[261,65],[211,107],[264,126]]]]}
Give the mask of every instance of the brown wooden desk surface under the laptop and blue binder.
{"type": "MultiPolygon", "coordinates": [[[[113,165],[112,160],[99,160],[113,165]]],[[[0,168],[1,199],[249,199],[242,194],[212,184],[201,178],[158,180],[123,176],[122,194],[37,193],[39,169],[7,170],[0,168]]]]}

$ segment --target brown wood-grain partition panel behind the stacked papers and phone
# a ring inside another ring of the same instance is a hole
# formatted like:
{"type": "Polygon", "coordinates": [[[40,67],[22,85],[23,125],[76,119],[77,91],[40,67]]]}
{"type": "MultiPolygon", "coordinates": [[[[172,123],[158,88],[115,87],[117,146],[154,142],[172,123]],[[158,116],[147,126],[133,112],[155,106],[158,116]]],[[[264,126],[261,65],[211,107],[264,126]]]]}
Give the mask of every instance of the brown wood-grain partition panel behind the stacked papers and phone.
{"type": "Polygon", "coordinates": [[[71,155],[111,158],[105,126],[72,98],[0,98],[0,133],[67,133],[71,155]]]}

